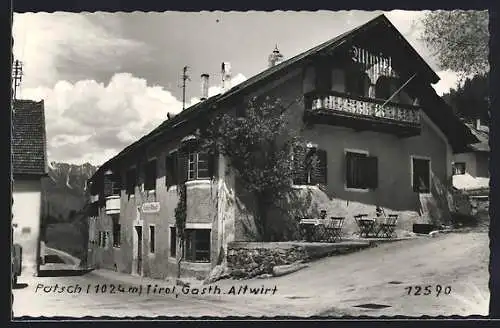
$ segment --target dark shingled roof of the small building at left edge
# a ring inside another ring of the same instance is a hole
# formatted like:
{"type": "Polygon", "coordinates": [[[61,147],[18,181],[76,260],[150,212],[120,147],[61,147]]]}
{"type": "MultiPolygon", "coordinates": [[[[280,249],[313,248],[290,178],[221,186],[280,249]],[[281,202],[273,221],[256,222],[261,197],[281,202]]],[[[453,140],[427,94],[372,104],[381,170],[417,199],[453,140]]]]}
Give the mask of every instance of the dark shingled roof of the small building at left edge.
{"type": "Polygon", "coordinates": [[[12,172],[47,174],[45,110],[43,100],[15,100],[12,113],[12,172]]]}

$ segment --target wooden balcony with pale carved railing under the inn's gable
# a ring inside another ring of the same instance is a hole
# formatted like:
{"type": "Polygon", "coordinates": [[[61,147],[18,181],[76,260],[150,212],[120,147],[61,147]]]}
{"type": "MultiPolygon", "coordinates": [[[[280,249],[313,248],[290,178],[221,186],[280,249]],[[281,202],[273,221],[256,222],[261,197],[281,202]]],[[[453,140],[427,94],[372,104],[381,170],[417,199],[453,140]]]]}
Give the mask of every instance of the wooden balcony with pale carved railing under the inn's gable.
{"type": "Polygon", "coordinates": [[[305,96],[304,119],[312,124],[329,124],[357,131],[377,131],[411,137],[420,134],[420,107],[384,100],[341,94],[309,93],[305,96]]]}

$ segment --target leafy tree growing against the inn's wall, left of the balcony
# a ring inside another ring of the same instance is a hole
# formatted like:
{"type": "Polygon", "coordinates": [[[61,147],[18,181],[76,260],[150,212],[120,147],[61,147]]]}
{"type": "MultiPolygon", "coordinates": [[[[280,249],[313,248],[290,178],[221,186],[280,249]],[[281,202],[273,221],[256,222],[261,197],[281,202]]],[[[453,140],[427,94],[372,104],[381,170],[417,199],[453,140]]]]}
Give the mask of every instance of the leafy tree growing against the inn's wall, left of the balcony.
{"type": "Polygon", "coordinates": [[[303,158],[305,147],[299,147],[301,138],[287,124],[288,107],[279,99],[253,98],[238,115],[215,117],[200,137],[202,148],[222,154],[253,196],[255,226],[263,241],[271,238],[269,209],[293,190],[294,174],[302,169],[297,165],[304,164],[294,165],[294,156],[303,158]]]}

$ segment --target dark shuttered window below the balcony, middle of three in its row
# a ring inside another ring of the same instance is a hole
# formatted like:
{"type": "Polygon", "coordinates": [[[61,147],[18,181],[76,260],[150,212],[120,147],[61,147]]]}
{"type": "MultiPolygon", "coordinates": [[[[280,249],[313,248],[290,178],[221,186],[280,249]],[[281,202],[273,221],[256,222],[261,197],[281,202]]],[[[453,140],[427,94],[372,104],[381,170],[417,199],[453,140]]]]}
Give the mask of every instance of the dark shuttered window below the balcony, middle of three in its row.
{"type": "Polygon", "coordinates": [[[378,185],[377,157],[366,153],[348,151],[346,159],[346,187],[352,189],[376,189],[378,185]]]}

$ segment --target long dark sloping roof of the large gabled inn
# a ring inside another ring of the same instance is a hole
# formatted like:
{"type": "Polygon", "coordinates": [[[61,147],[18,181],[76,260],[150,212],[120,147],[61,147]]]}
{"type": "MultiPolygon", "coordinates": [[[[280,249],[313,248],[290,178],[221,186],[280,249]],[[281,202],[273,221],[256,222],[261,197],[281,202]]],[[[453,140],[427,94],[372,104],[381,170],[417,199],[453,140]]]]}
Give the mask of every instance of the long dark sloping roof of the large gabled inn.
{"type": "MultiPolygon", "coordinates": [[[[406,51],[408,51],[413,58],[415,58],[417,64],[419,67],[421,67],[422,72],[424,72],[424,75],[427,76],[428,80],[431,83],[436,83],[439,81],[439,77],[436,75],[436,73],[430,68],[430,66],[420,57],[420,55],[416,52],[415,49],[405,40],[405,38],[399,33],[399,31],[392,25],[392,23],[385,17],[385,15],[379,15],[372,20],[368,21],[367,23],[360,25],[348,32],[345,32],[329,41],[326,41],[316,47],[311,48],[310,50],[307,50],[303,53],[300,53],[288,60],[283,61],[282,63],[270,67],[263,72],[247,79],[246,81],[234,86],[233,88],[229,89],[227,92],[223,94],[218,94],[213,97],[208,98],[207,100],[195,104],[182,112],[180,112],[178,115],[176,115],[174,118],[169,119],[164,121],[162,124],[160,124],[156,129],[151,131],[149,134],[145,135],[144,137],[140,138],[138,141],[134,142],[130,146],[126,147],[123,149],[120,153],[118,153],[115,157],[111,158],[108,160],[106,163],[104,163],[101,168],[107,169],[112,162],[117,161],[118,159],[122,158],[126,154],[130,153],[134,149],[137,149],[144,144],[155,140],[157,137],[163,135],[164,133],[171,131],[172,129],[176,129],[192,119],[193,117],[196,117],[197,115],[200,115],[201,113],[204,113],[205,111],[210,110],[213,108],[215,105],[222,103],[223,101],[226,101],[238,94],[241,94],[242,92],[247,92],[251,88],[256,87],[259,85],[261,82],[267,81],[268,79],[278,76],[280,73],[286,72],[287,70],[293,69],[296,67],[296,65],[300,65],[304,63],[305,60],[310,58],[313,55],[316,55],[318,53],[321,53],[326,50],[334,50],[345,43],[348,43],[351,41],[354,37],[360,35],[361,33],[364,33],[370,29],[372,29],[375,26],[380,26],[383,25],[386,28],[392,30],[395,35],[397,36],[398,40],[400,41],[400,44],[402,47],[405,48],[406,51]]],[[[100,171],[96,172],[99,173],[100,171]]]]}

